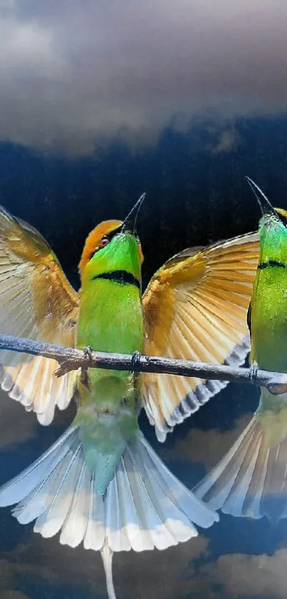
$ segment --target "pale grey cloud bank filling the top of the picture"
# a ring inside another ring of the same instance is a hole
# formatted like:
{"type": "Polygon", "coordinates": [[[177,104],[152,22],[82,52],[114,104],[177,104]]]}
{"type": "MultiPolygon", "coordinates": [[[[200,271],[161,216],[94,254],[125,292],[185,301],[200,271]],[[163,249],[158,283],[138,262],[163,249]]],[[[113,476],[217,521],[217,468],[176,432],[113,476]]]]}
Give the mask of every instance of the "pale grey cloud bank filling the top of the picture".
{"type": "Polygon", "coordinates": [[[85,154],[286,111],[285,0],[1,0],[0,141],[85,154]]]}

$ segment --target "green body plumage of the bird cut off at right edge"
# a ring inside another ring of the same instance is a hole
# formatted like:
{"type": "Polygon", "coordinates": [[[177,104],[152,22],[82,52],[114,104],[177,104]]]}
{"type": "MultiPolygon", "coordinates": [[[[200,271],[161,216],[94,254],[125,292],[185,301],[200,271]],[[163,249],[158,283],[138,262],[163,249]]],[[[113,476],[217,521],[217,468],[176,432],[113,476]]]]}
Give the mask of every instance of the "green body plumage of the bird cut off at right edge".
{"type": "MultiPolygon", "coordinates": [[[[259,225],[259,267],[251,298],[251,363],[287,372],[287,228],[279,216],[265,214],[259,225]]],[[[285,395],[261,389],[257,418],[270,447],[287,433],[285,395]]]]}

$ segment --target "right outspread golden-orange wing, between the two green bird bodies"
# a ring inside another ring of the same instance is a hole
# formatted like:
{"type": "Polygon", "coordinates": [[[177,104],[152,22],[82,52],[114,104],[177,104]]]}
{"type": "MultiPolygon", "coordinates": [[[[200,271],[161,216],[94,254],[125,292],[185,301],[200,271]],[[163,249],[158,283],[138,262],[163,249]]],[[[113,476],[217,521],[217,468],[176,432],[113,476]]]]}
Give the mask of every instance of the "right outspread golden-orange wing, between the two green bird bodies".
{"type": "MultiPolygon", "coordinates": [[[[247,308],[259,256],[259,235],[185,250],[152,277],[143,296],[145,353],[187,360],[244,362],[249,351],[247,308]]],[[[157,437],[182,422],[226,381],[142,375],[142,401],[157,437]]]]}

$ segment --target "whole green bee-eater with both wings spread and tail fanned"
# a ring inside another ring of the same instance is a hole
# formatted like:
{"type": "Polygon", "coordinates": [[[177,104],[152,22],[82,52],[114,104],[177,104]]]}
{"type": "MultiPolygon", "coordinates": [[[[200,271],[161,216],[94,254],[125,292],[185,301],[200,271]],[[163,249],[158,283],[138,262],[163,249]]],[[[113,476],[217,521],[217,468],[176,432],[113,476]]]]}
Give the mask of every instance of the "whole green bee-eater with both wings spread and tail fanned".
{"type": "MultiPolygon", "coordinates": [[[[254,234],[169,260],[141,297],[140,201],[87,238],[79,296],[46,241],[0,213],[0,330],[99,351],[143,351],[239,364],[248,351],[246,309],[258,256],[254,234]]],[[[76,390],[73,425],[0,491],[21,523],[61,543],[101,550],[110,597],[113,551],[166,548],[212,525],[216,513],[167,470],[139,431],[145,406],[157,436],[214,395],[221,383],[89,369],[53,376],[56,363],[1,352],[1,386],[48,424],[76,390]]]]}

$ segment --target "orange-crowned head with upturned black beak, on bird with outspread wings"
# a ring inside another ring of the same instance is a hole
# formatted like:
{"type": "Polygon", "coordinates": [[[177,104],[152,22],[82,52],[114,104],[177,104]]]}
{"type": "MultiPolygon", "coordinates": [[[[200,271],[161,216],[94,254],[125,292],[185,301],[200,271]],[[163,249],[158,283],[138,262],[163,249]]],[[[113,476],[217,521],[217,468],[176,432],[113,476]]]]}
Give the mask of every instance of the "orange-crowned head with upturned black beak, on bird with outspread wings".
{"type": "Polygon", "coordinates": [[[124,221],[103,221],[90,232],[79,263],[82,282],[115,271],[125,271],[140,281],[143,255],[136,221],[144,197],[124,221]]]}

